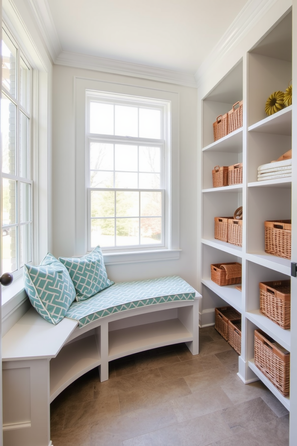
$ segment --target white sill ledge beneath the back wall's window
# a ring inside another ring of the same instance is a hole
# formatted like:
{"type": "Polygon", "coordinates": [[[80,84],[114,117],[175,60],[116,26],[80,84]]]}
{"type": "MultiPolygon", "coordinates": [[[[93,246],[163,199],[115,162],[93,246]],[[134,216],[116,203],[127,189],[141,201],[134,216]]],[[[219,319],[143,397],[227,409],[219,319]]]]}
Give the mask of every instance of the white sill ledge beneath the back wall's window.
{"type": "Polygon", "coordinates": [[[155,249],[134,252],[103,252],[104,264],[155,262],[160,260],[178,260],[181,249],[155,249]]]}

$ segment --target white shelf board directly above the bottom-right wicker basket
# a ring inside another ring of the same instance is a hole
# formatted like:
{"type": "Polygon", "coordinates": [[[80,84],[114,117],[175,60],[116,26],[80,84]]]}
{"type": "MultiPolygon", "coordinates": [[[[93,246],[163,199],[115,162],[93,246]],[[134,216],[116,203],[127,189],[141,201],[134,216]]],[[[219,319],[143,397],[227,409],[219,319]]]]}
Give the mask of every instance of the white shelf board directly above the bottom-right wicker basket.
{"type": "Polygon", "coordinates": [[[246,317],[267,335],[277,341],[277,343],[285,347],[286,350],[291,351],[290,330],[284,330],[269,318],[266,318],[266,316],[261,314],[260,310],[248,311],[246,313],[246,317]]]}

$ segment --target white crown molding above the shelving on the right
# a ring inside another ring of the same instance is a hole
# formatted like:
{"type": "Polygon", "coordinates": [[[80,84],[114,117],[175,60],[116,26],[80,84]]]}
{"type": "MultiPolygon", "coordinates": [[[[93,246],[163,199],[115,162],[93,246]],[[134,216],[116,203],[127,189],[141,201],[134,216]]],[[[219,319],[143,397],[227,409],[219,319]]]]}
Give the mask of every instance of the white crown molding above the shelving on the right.
{"type": "Polygon", "coordinates": [[[279,0],[249,0],[238,16],[234,19],[227,31],[220,38],[207,58],[204,59],[195,73],[197,86],[201,78],[218,60],[221,60],[232,48],[251,31],[258,21],[279,0]]]}

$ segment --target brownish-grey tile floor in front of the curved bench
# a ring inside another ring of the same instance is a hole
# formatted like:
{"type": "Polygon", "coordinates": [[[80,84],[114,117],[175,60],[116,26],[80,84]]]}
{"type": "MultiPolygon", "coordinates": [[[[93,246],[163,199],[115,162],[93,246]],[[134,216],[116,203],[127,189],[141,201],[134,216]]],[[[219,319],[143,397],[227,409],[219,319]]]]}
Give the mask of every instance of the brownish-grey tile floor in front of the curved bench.
{"type": "Polygon", "coordinates": [[[81,376],[51,405],[53,446],[287,446],[289,413],[260,382],[244,385],[238,355],[214,327],[200,353],[157,348],[81,376]]]}

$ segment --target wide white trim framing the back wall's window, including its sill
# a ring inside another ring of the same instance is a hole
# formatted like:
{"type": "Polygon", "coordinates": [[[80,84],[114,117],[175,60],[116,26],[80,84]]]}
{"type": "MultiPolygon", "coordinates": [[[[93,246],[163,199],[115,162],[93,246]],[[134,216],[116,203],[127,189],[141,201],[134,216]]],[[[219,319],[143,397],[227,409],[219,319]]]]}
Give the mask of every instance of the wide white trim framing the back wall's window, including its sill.
{"type": "MultiPolygon", "coordinates": [[[[156,260],[170,260],[179,258],[179,94],[172,91],[154,90],[152,88],[138,87],[123,83],[111,83],[94,79],[74,77],[75,98],[75,148],[76,148],[76,244],[75,255],[84,255],[87,252],[87,151],[82,150],[86,146],[85,127],[87,124],[86,92],[100,91],[107,94],[131,95],[141,98],[154,98],[160,101],[168,101],[171,104],[168,119],[171,127],[165,125],[167,140],[171,145],[169,159],[167,159],[170,178],[165,178],[170,186],[167,191],[168,213],[165,224],[167,225],[168,241],[166,248],[139,248],[139,250],[118,250],[117,252],[103,252],[105,264],[134,263],[156,260]],[[173,198],[174,197],[174,198],[173,198]]],[[[149,100],[149,99],[147,99],[149,100]]],[[[168,155],[167,155],[168,156],[168,155]]]]}

